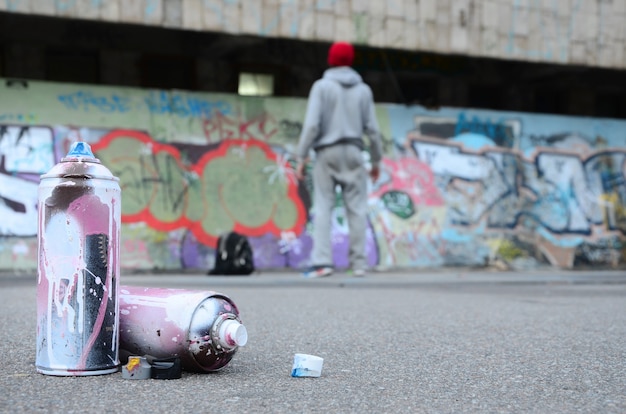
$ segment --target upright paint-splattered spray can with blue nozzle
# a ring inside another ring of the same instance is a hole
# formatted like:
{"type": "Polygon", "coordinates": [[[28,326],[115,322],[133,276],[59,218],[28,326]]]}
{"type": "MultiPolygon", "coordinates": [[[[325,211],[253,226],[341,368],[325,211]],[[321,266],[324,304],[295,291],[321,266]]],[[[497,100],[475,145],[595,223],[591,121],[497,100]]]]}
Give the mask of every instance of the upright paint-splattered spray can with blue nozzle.
{"type": "Polygon", "coordinates": [[[119,368],[119,180],[76,142],[39,184],[37,371],[119,368]]]}

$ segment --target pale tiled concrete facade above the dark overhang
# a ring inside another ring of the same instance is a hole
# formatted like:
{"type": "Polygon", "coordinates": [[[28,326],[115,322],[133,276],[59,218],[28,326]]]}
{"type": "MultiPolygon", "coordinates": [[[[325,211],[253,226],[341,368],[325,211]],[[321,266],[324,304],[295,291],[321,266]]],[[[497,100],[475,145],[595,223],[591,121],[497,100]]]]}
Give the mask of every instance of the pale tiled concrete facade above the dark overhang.
{"type": "Polygon", "coordinates": [[[624,0],[8,0],[0,11],[626,69],[624,0]]]}

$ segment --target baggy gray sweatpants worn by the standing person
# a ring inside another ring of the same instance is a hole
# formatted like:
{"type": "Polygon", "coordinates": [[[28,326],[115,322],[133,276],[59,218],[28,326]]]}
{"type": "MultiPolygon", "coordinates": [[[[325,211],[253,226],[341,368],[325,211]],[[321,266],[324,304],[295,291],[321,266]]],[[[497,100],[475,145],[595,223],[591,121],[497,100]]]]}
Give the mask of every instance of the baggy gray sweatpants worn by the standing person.
{"type": "Polygon", "coordinates": [[[367,177],[361,149],[337,144],[316,153],[313,167],[313,266],[333,266],[331,218],[335,186],[341,187],[350,231],[350,265],[366,268],[367,177]]]}

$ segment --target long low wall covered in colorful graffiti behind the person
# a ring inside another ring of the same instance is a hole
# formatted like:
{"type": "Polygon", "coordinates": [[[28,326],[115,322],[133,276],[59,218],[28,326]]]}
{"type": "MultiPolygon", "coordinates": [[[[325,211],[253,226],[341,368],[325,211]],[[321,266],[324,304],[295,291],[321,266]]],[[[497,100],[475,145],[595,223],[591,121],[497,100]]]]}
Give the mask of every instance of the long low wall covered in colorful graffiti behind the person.
{"type": "MultiPolygon", "coordinates": [[[[0,79],[0,270],[37,267],[39,176],[91,144],[120,178],[122,268],[206,271],[246,234],[260,269],[308,265],[312,183],[294,174],[305,99],[0,79]]],[[[626,121],[380,103],[380,268],[626,262],[626,121]]],[[[364,153],[367,158],[367,153],[364,153]]],[[[341,197],[336,265],[348,266],[341,197]]]]}

